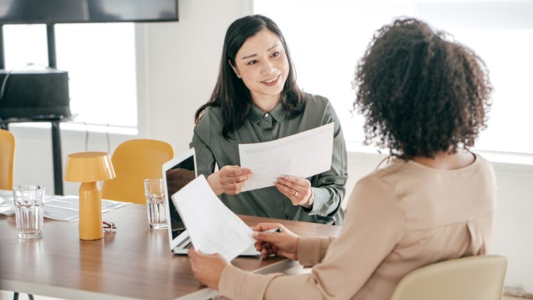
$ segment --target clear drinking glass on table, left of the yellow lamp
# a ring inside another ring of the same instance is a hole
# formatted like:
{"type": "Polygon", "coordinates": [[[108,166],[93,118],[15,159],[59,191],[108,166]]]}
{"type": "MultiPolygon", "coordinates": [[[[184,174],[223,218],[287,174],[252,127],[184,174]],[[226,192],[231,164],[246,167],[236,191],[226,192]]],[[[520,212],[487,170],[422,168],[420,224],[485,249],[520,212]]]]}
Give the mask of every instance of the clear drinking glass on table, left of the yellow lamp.
{"type": "Polygon", "coordinates": [[[42,201],[44,200],[44,186],[19,185],[13,188],[15,201],[15,218],[19,238],[42,238],[42,201]]]}

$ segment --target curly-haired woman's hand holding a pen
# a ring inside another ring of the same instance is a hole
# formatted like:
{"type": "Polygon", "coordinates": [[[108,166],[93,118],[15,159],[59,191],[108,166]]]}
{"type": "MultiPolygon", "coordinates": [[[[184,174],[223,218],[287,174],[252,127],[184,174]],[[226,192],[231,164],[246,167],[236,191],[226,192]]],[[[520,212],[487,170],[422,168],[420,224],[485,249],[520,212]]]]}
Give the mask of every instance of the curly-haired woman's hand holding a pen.
{"type": "Polygon", "coordinates": [[[253,238],[255,242],[255,249],[261,252],[263,258],[267,258],[271,254],[277,256],[284,256],[289,260],[298,260],[298,235],[292,233],[282,224],[276,223],[261,223],[253,228],[253,238]],[[280,233],[264,233],[269,229],[280,228],[280,233]]]}

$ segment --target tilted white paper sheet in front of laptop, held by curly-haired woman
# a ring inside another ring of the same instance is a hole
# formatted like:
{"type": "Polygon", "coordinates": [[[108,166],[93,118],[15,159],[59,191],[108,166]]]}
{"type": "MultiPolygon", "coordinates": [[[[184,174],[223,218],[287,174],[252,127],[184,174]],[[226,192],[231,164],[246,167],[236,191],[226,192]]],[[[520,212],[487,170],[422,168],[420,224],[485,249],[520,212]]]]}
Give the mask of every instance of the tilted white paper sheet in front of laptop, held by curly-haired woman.
{"type": "Polygon", "coordinates": [[[230,262],[255,242],[252,229],[220,201],[203,175],[171,195],[171,199],[194,249],[220,253],[230,262]]]}

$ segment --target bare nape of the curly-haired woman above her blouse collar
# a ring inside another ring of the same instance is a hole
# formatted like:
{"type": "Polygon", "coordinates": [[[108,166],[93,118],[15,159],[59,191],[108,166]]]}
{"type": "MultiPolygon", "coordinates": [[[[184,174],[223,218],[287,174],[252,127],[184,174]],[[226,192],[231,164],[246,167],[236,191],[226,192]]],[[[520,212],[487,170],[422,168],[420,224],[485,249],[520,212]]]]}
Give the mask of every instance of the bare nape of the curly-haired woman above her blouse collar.
{"type": "Polygon", "coordinates": [[[475,161],[475,155],[465,149],[457,149],[456,153],[439,152],[434,158],[416,156],[413,158],[416,163],[420,163],[434,169],[461,169],[471,165],[475,161]]]}

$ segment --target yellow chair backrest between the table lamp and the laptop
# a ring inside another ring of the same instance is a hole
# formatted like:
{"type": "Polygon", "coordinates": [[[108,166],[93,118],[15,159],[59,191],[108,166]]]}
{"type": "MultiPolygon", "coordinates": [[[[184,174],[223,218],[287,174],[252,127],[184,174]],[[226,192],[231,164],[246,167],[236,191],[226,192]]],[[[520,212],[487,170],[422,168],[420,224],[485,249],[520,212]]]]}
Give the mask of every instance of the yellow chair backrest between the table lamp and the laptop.
{"type": "Polygon", "coordinates": [[[128,140],[119,144],[111,162],[117,177],[104,181],[102,198],[146,203],[144,179],[161,178],[162,165],[174,158],[171,144],[159,140],[128,140]]]}

